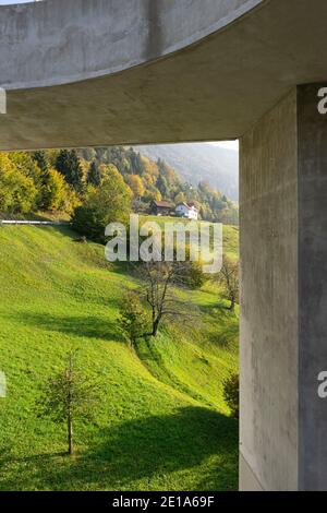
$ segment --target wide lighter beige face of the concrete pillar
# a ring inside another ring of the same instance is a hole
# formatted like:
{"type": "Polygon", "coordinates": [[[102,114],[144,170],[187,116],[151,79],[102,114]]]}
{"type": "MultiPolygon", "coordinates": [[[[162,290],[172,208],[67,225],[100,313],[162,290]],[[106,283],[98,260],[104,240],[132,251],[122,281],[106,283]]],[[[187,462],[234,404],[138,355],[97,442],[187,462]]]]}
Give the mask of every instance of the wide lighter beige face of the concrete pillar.
{"type": "Polygon", "coordinates": [[[296,148],[293,90],[241,140],[240,450],[266,491],[298,489],[296,148]]]}

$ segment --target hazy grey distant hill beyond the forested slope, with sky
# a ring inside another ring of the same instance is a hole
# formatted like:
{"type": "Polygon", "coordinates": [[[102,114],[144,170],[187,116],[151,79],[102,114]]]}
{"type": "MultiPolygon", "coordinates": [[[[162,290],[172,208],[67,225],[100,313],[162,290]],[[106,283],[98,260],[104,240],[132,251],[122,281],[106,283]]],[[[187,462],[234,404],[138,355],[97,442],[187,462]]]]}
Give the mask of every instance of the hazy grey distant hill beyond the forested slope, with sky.
{"type": "Polygon", "coordinates": [[[239,154],[208,143],[135,146],[152,159],[162,158],[186,181],[206,180],[228,198],[239,201],[239,154]]]}

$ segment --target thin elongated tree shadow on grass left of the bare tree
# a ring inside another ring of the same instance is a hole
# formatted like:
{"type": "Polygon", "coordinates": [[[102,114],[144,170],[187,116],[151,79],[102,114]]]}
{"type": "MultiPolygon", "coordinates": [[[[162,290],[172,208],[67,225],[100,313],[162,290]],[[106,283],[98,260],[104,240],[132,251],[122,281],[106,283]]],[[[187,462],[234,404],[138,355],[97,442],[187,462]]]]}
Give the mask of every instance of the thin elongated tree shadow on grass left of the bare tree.
{"type": "Polygon", "coordinates": [[[50,315],[41,312],[20,312],[15,317],[25,325],[37,326],[46,331],[102,341],[122,341],[117,323],[102,317],[50,315]]]}

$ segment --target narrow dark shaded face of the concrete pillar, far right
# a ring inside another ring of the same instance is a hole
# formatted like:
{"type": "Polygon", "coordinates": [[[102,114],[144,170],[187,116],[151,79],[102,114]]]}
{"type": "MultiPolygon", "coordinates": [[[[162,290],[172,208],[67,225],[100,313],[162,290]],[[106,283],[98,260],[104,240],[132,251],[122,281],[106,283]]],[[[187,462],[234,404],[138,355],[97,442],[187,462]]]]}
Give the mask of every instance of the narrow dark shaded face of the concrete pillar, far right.
{"type": "MultiPolygon", "coordinates": [[[[326,87],[325,84],[320,84],[326,87]]],[[[299,87],[300,489],[327,490],[327,116],[319,85],[299,87]]]]}

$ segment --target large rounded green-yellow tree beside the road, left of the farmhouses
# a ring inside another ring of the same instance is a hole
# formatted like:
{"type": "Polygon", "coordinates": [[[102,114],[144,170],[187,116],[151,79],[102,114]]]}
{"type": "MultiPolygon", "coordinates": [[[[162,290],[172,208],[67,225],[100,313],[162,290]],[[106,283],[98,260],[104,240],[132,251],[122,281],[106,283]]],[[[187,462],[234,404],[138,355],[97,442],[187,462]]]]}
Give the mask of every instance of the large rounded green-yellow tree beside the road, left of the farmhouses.
{"type": "Polygon", "coordinates": [[[75,210],[72,223],[80,234],[105,242],[105,229],[109,223],[128,224],[132,193],[114,166],[107,166],[99,189],[90,188],[84,204],[75,210]]]}

